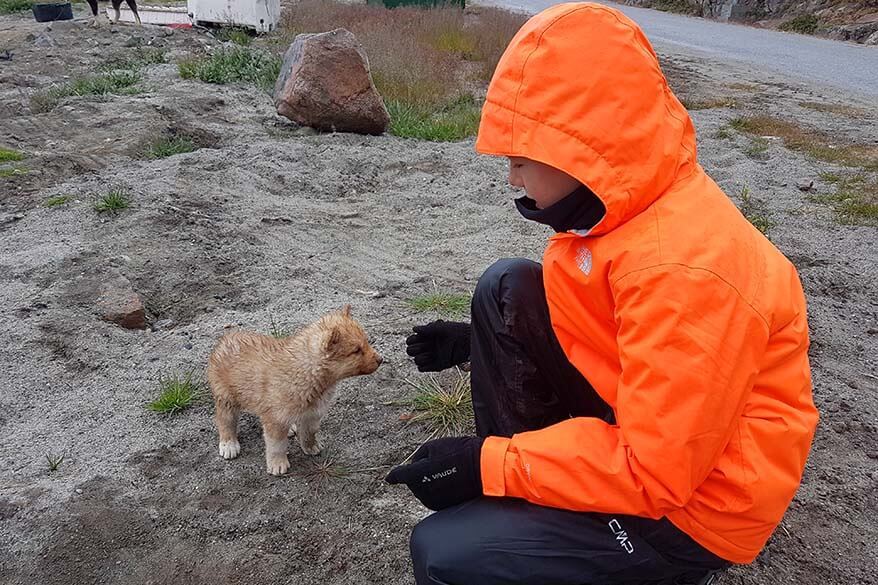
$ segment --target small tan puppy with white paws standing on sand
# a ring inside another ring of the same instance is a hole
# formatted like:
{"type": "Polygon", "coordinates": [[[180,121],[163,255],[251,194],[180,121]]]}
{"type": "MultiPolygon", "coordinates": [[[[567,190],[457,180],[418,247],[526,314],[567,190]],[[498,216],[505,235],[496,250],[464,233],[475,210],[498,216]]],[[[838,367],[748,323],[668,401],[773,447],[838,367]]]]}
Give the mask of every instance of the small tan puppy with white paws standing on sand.
{"type": "Polygon", "coordinates": [[[317,431],[336,382],[371,374],[381,361],[351,316],[350,305],[293,337],[275,339],[244,331],[224,335],[207,366],[220,455],[234,459],[241,451],[238,415],[242,410],[262,421],[268,473],[289,470],[288,433],[296,433],[302,451],[317,455],[322,448],[317,431]]]}

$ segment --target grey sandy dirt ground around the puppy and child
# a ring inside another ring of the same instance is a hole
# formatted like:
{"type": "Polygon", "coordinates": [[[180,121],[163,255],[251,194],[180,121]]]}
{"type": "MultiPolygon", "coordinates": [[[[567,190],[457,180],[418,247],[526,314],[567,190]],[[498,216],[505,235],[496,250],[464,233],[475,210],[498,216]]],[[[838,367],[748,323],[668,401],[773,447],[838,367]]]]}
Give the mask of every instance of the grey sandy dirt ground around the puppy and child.
{"type": "MultiPolygon", "coordinates": [[[[114,30],[46,33],[0,17],[0,53],[14,54],[0,61],[0,144],[27,155],[26,172],[0,177],[0,582],[410,583],[408,531],[425,511],[382,477],[427,435],[396,403],[417,376],[404,337],[433,316],[406,299],[468,292],[498,257],[538,258],[547,232],[517,215],[503,161],[477,157],[471,141],[302,136],[258,91],[184,81],[171,64],[146,67],[137,95],[29,111],[37,89],[135,51],[126,45],[174,58],[216,42],[114,30]],[[142,158],[174,131],[204,148],[142,158]],[[116,185],[132,207],[95,213],[116,185]],[[71,199],[44,205],[58,195],[71,199]],[[153,323],[172,322],[129,331],[98,320],[96,287],[118,274],[153,323]],[[144,408],[160,375],[201,370],[228,324],[295,327],[345,302],[387,361],[341,385],[325,457],[291,450],[292,472],[272,478],[252,418],[242,456],[225,462],[209,406],[174,417],[144,408]],[[66,454],[56,472],[47,451],[66,454]],[[339,473],[321,473],[326,461],[339,473]]],[[[840,167],[777,141],[752,158],[749,138],[716,137],[741,111],[764,109],[875,144],[878,109],[815,112],[799,102],[839,98],[673,55],[666,68],[687,99],[739,104],[693,112],[700,158],[736,202],[747,187],[764,203],[771,239],[801,271],[822,413],[782,528],[721,583],[878,583],[875,228],[839,225],[795,186],[810,178],[831,191],[818,173],[840,167]]]]}

